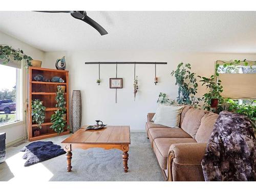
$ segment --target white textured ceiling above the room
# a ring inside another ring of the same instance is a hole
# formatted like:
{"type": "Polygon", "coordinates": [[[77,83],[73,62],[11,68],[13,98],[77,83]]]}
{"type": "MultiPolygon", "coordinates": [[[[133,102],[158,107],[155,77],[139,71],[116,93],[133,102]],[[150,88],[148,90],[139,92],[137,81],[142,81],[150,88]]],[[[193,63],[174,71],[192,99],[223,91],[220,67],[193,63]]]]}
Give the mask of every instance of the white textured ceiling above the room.
{"type": "MultiPolygon", "coordinates": [[[[256,12],[88,11],[109,34],[69,13],[0,11],[0,31],[43,51],[256,53],[256,12]]],[[[1,39],[0,39],[1,44],[1,39]]]]}

